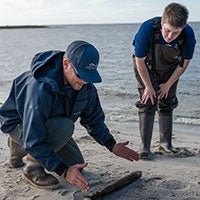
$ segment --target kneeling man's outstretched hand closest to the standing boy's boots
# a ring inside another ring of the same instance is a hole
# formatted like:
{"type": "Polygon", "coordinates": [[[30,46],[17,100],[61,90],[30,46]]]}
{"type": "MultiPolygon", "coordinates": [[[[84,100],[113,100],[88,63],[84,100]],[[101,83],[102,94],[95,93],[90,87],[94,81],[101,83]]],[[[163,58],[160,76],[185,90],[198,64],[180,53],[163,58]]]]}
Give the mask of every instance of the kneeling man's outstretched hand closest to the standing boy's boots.
{"type": "Polygon", "coordinates": [[[133,151],[132,149],[129,149],[128,147],[126,147],[126,145],[128,145],[128,143],[129,142],[127,141],[127,142],[115,144],[112,152],[121,158],[125,158],[130,161],[134,161],[134,160],[138,161],[139,154],[137,152],[133,151]]]}

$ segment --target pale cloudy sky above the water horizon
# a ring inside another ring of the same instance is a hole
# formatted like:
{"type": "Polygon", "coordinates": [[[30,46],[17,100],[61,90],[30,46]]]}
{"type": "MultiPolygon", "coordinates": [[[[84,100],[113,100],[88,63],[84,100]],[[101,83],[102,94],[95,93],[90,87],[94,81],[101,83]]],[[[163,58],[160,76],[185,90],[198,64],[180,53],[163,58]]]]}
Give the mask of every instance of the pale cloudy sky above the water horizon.
{"type": "Polygon", "coordinates": [[[189,21],[200,21],[199,0],[0,0],[0,26],[140,23],[171,2],[188,8],[189,21]]]}

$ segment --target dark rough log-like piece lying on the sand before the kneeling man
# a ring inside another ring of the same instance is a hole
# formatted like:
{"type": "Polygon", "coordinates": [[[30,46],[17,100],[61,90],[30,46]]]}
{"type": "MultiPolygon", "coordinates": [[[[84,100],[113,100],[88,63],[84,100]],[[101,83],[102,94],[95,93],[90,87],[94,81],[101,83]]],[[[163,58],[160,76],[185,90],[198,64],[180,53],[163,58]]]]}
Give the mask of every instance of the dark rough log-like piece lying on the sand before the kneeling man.
{"type": "Polygon", "coordinates": [[[132,173],[122,177],[121,179],[117,180],[116,182],[108,185],[104,189],[85,196],[86,197],[85,199],[95,200],[97,198],[102,198],[102,197],[110,194],[111,192],[117,191],[117,190],[125,187],[126,185],[137,181],[141,177],[142,177],[141,171],[132,172],[132,173]]]}

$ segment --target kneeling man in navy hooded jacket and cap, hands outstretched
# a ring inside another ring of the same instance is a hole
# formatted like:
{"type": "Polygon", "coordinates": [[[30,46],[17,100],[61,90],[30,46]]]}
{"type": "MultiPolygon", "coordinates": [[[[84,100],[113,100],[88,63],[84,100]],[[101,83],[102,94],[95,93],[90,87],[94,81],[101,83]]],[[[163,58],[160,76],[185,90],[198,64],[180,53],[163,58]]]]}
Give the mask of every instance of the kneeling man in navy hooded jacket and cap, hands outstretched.
{"type": "Polygon", "coordinates": [[[34,56],[30,71],[13,81],[8,99],[0,108],[1,130],[9,134],[10,166],[21,167],[33,186],[54,189],[56,172],[83,190],[89,183],[81,174],[87,166],[73,140],[74,123],[80,123],[101,145],[133,161],[137,152],[116,143],[104,123],[97,90],[99,53],[88,42],[74,41],[66,52],[46,51],[34,56]]]}

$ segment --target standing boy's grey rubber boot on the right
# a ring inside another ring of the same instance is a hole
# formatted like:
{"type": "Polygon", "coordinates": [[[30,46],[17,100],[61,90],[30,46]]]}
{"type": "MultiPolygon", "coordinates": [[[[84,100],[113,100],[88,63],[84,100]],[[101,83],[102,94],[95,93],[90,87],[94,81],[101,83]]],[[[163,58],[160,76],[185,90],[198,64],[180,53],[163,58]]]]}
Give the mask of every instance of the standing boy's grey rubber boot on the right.
{"type": "Polygon", "coordinates": [[[158,112],[160,150],[165,153],[171,153],[174,151],[172,147],[172,120],[172,112],[158,112]]]}

